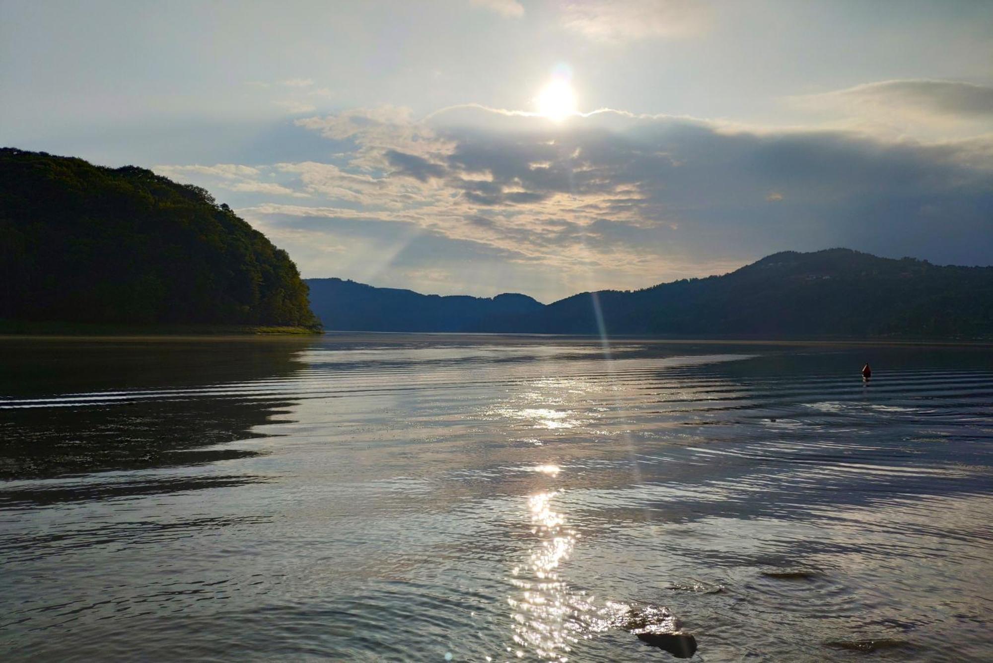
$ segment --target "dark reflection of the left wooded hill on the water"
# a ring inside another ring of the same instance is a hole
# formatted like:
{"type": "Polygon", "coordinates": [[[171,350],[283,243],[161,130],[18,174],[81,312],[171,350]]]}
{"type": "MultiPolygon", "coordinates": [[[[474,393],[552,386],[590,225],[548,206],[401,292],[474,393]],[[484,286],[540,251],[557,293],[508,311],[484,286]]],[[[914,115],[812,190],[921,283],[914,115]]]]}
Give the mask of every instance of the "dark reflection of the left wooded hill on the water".
{"type": "Polygon", "coordinates": [[[295,372],[305,342],[5,340],[0,477],[251,456],[194,450],[256,437],[251,429],[265,424],[285,397],[252,397],[243,387],[295,372]],[[235,385],[242,387],[238,394],[225,393],[235,385]]]}

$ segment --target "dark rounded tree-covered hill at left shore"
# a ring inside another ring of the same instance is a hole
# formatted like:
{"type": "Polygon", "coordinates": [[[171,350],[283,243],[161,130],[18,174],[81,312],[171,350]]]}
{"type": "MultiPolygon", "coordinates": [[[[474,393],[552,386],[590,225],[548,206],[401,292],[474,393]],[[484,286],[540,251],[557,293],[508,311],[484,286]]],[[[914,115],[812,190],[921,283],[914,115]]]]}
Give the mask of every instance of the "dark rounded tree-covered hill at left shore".
{"type": "Polygon", "coordinates": [[[0,319],[315,328],[285,251],[205,190],[0,150],[0,319]]]}

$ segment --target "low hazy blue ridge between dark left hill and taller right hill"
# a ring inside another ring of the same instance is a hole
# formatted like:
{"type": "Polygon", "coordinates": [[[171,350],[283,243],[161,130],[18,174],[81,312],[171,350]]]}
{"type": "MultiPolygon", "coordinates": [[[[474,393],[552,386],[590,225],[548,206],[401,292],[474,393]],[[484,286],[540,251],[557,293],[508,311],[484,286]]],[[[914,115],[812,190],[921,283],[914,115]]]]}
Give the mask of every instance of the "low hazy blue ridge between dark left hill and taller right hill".
{"type": "Polygon", "coordinates": [[[544,308],[526,295],[442,297],[342,279],[306,283],[314,313],[337,331],[490,331],[544,308]]]}

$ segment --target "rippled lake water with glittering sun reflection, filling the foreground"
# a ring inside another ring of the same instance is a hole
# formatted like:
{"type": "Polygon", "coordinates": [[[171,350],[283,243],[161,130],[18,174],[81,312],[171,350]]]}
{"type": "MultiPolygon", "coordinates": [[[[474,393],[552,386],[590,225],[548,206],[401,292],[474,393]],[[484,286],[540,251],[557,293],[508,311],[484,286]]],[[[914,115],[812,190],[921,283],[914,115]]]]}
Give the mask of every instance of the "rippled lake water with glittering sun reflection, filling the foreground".
{"type": "Polygon", "coordinates": [[[993,658],[988,347],[0,351],[5,660],[993,658]]]}

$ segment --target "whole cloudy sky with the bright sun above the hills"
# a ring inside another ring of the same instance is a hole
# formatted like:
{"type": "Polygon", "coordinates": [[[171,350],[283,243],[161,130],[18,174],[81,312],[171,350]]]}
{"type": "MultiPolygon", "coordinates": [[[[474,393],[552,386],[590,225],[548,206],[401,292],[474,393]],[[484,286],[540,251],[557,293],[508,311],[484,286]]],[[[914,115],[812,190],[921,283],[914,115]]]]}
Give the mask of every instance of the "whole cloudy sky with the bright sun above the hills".
{"type": "Polygon", "coordinates": [[[0,98],[0,144],[206,187],[307,278],[993,264],[993,2],[0,0],[0,98]]]}

